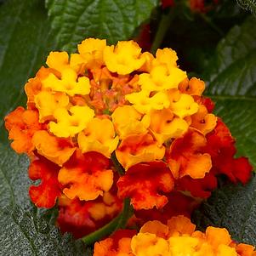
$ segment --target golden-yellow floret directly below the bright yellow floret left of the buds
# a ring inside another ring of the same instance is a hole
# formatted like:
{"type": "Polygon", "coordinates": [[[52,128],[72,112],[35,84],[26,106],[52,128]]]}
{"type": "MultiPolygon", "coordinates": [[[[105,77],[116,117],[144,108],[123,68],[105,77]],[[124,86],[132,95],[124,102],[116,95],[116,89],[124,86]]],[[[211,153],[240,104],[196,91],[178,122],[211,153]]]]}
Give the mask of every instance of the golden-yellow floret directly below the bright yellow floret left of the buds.
{"type": "Polygon", "coordinates": [[[41,91],[35,96],[35,104],[39,111],[39,122],[45,122],[53,119],[56,109],[65,108],[69,104],[69,97],[63,93],[41,91]]]}

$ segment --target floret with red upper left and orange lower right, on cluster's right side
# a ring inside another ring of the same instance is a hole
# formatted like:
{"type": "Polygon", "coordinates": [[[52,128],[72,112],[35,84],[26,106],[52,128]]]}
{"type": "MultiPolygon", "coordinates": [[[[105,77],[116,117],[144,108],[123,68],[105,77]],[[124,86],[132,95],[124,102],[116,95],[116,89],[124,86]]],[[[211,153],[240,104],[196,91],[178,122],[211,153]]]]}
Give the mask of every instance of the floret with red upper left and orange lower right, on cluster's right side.
{"type": "Polygon", "coordinates": [[[201,179],[210,171],[211,156],[203,152],[206,144],[204,136],[192,128],[182,138],[174,140],[166,157],[175,179],[185,175],[201,179]]]}

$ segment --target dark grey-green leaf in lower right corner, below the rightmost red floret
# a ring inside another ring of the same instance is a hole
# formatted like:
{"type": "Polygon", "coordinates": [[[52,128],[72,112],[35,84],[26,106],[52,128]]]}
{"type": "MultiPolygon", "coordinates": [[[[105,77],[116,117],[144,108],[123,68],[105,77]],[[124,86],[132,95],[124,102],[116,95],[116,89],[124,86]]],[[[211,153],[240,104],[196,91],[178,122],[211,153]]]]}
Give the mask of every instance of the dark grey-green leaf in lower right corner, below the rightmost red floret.
{"type": "Polygon", "coordinates": [[[214,191],[196,210],[193,222],[204,230],[209,225],[225,227],[237,242],[256,246],[256,177],[246,185],[226,185],[214,191]]]}

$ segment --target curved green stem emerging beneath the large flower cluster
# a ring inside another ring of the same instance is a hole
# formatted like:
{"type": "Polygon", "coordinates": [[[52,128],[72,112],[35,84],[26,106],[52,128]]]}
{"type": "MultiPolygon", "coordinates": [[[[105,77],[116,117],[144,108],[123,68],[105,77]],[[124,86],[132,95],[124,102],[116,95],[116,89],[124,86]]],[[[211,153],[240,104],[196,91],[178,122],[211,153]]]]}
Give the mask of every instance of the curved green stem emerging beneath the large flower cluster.
{"type": "Polygon", "coordinates": [[[124,229],[127,224],[128,218],[130,217],[130,214],[130,200],[125,199],[123,202],[122,213],[119,213],[119,215],[115,219],[112,219],[111,222],[100,228],[100,230],[96,230],[88,236],[82,237],[82,241],[86,245],[90,245],[94,242],[100,241],[105,236],[111,235],[111,233],[113,233],[117,229],[124,229]]]}

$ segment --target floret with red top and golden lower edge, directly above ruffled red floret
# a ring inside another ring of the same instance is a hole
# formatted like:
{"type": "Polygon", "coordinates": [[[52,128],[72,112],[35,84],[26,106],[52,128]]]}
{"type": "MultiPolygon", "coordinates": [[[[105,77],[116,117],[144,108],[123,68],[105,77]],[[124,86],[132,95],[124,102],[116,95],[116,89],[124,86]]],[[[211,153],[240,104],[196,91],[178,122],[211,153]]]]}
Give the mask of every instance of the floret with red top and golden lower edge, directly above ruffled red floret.
{"type": "Polygon", "coordinates": [[[151,134],[129,135],[118,146],[117,160],[126,170],[138,162],[162,159],[165,148],[158,145],[151,134]]]}

